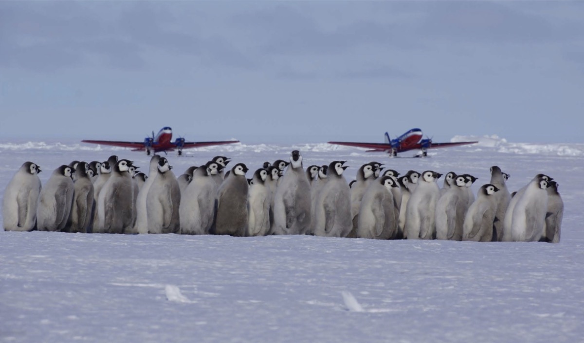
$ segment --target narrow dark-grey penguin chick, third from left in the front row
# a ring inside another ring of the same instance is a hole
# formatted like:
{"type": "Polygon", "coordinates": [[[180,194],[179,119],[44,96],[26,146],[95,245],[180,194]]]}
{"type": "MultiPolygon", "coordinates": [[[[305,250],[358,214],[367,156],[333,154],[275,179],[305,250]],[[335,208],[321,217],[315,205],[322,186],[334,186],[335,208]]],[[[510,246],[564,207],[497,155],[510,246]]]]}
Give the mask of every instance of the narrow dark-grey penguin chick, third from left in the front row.
{"type": "Polygon", "coordinates": [[[73,202],[67,232],[87,233],[91,224],[91,212],[93,209],[93,183],[89,178],[89,164],[78,162],[75,169],[75,181],[73,181],[73,202]]]}

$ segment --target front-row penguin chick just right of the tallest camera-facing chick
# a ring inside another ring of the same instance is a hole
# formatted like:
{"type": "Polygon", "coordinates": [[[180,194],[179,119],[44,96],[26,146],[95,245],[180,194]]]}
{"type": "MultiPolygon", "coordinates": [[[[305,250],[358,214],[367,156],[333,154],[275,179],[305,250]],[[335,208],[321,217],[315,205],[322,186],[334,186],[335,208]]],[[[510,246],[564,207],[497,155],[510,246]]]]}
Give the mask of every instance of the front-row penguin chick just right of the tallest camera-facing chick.
{"type": "Polygon", "coordinates": [[[353,229],[350,188],[343,176],[346,161],[333,161],[328,167],[328,181],[319,191],[312,213],[314,235],[346,237],[353,229]]]}

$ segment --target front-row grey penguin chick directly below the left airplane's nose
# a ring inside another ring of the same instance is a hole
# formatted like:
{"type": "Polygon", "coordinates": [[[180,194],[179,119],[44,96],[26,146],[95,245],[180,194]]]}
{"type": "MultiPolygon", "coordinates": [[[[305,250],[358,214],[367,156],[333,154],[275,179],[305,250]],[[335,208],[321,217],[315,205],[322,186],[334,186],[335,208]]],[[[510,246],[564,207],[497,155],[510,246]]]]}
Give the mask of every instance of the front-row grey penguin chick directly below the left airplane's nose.
{"type": "Polygon", "coordinates": [[[158,159],[157,173],[146,196],[148,233],[178,233],[180,188],[166,157],[158,159]]]}

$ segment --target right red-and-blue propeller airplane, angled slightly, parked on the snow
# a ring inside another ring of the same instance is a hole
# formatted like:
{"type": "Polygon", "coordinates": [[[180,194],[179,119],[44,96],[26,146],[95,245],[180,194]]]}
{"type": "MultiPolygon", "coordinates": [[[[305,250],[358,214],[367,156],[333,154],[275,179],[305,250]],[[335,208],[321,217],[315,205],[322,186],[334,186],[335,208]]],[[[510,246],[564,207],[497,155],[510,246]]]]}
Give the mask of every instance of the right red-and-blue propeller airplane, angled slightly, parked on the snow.
{"type": "MultiPolygon", "coordinates": [[[[358,148],[369,148],[367,152],[387,152],[390,156],[397,156],[399,152],[404,152],[413,149],[422,150],[422,157],[427,156],[427,149],[431,148],[447,148],[450,146],[459,146],[478,143],[474,142],[449,142],[449,143],[434,143],[432,138],[422,139],[422,130],[413,128],[405,134],[395,139],[390,139],[390,135],[385,132],[385,143],[361,143],[361,142],[328,142],[329,144],[356,146],[358,148]]],[[[419,155],[418,155],[419,156],[419,155]]]]}

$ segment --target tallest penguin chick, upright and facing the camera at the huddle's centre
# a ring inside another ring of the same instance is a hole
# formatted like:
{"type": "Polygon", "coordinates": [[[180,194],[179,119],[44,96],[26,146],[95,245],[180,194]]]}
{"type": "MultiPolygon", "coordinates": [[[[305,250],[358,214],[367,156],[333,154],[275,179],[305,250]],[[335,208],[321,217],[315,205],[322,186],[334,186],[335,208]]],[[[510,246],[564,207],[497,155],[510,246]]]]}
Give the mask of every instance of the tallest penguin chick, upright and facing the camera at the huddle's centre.
{"type": "Polygon", "coordinates": [[[294,150],[290,166],[279,181],[274,195],[275,234],[306,234],[311,224],[311,194],[302,167],[302,155],[294,150]]]}

